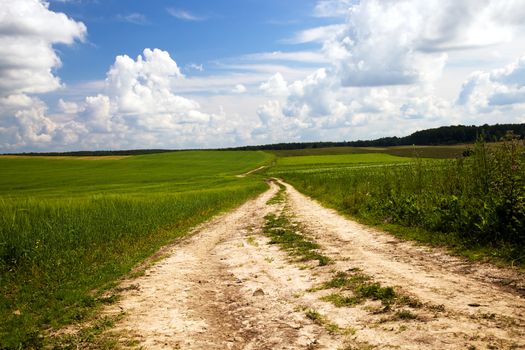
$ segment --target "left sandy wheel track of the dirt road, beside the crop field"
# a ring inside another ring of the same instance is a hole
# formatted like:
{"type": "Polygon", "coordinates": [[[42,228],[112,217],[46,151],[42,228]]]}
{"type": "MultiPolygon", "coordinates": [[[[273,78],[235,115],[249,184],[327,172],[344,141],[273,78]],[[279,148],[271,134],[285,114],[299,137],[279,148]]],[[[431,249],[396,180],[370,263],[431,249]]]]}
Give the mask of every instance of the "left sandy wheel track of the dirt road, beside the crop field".
{"type": "Polygon", "coordinates": [[[275,210],[266,202],[276,188],[200,227],[145,276],[123,284],[136,287],[108,311],[126,314],[113,330],[123,347],[332,347],[324,328],[289,302],[311,287],[310,276],[261,235],[264,216],[275,210]]]}

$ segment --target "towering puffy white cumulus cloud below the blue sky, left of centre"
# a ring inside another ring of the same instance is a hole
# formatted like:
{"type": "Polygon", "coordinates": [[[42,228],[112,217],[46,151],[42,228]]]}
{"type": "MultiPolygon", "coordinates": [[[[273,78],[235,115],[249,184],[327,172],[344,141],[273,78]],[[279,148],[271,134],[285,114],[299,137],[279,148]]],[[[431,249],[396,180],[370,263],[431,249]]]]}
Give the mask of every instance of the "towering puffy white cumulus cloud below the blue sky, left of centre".
{"type": "Polygon", "coordinates": [[[87,97],[82,122],[95,133],[168,133],[182,125],[206,124],[199,104],[172,92],[184,79],[169,53],[145,49],[135,60],[117,56],[106,77],[105,95],[87,97]]]}

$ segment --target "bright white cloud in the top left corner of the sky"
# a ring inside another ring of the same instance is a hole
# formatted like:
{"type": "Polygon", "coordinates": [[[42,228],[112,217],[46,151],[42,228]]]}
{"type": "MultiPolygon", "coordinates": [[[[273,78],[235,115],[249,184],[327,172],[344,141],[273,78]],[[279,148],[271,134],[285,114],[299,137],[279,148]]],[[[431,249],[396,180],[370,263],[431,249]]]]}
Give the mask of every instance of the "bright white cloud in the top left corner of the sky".
{"type": "Polygon", "coordinates": [[[60,87],[53,44],[83,40],[86,27],[39,0],[0,1],[0,96],[60,87]]]}

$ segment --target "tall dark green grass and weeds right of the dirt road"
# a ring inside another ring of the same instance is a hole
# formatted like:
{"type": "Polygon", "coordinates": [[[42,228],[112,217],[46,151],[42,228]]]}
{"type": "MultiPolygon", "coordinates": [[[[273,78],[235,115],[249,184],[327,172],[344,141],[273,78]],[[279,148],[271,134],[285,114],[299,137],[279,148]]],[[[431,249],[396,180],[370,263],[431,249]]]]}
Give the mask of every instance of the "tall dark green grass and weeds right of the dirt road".
{"type": "Polygon", "coordinates": [[[367,222],[419,228],[424,234],[415,238],[484,247],[524,264],[523,149],[518,140],[497,147],[480,142],[470,157],[456,160],[276,171],[306,194],[367,222]]]}

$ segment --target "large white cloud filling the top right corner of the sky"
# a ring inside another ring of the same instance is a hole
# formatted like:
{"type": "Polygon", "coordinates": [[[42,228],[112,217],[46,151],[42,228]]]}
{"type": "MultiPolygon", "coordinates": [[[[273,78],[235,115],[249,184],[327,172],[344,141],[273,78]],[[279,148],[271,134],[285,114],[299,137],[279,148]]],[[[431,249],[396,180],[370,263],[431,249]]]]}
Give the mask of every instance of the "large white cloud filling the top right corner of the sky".
{"type": "Polygon", "coordinates": [[[524,11],[512,0],[363,0],[349,7],[324,52],[345,86],[432,82],[446,51],[510,40],[524,11]]]}

